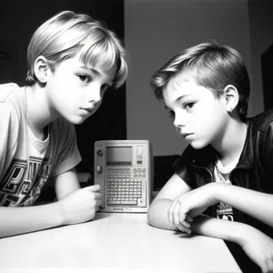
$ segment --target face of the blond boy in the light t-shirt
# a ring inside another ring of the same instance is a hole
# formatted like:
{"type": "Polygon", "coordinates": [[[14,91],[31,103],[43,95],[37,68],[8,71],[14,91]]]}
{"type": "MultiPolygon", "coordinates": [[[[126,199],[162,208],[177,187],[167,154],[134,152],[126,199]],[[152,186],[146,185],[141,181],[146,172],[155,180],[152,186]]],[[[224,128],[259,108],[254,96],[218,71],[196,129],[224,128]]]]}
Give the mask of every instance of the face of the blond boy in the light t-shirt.
{"type": "Polygon", "coordinates": [[[116,66],[108,70],[86,67],[78,57],[65,60],[47,74],[46,93],[51,115],[64,116],[73,124],[81,124],[92,116],[113,85],[116,66]]]}

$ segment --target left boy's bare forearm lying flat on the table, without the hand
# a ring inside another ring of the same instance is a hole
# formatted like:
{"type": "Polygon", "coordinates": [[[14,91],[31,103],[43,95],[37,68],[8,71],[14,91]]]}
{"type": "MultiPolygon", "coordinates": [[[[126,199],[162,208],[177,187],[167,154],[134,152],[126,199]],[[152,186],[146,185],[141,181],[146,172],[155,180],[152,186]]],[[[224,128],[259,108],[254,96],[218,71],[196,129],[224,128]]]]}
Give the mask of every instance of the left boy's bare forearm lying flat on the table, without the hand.
{"type": "Polygon", "coordinates": [[[0,207],[0,218],[0,238],[65,224],[58,202],[35,207],[0,207]]]}

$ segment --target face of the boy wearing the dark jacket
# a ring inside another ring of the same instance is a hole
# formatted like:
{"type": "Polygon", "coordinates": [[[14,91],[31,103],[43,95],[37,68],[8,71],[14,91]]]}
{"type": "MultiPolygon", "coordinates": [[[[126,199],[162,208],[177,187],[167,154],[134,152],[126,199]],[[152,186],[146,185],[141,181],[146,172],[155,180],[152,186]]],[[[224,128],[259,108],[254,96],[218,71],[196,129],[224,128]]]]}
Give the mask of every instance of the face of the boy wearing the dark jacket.
{"type": "Polygon", "coordinates": [[[194,80],[172,79],[163,93],[177,131],[194,148],[212,146],[223,139],[227,129],[227,100],[216,98],[204,86],[194,80]]]}

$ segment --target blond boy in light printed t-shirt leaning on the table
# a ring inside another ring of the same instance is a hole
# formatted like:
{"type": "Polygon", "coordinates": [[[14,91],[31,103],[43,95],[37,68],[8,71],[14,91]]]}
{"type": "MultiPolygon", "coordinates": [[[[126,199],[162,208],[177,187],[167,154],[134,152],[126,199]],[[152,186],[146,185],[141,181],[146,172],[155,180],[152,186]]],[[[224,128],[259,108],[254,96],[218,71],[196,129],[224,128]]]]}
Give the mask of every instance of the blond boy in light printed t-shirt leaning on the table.
{"type": "Polygon", "coordinates": [[[61,12],[27,49],[27,86],[0,86],[0,237],[85,222],[101,204],[99,186],[80,188],[74,125],[127,76],[126,50],[89,15],[61,12]],[[57,201],[31,207],[47,179],[57,201]]]}

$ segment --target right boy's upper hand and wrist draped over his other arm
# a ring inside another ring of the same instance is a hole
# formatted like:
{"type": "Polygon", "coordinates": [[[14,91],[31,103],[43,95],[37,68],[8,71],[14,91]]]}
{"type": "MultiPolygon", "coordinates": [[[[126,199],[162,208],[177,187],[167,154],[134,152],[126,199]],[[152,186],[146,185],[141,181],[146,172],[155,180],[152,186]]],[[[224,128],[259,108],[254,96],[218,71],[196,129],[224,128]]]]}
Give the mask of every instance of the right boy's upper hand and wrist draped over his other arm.
{"type": "Polygon", "coordinates": [[[179,195],[168,209],[167,217],[170,226],[176,225],[181,231],[189,234],[191,231],[188,222],[192,221],[192,217],[197,217],[207,207],[217,203],[214,197],[216,186],[217,183],[210,183],[179,195]]]}

